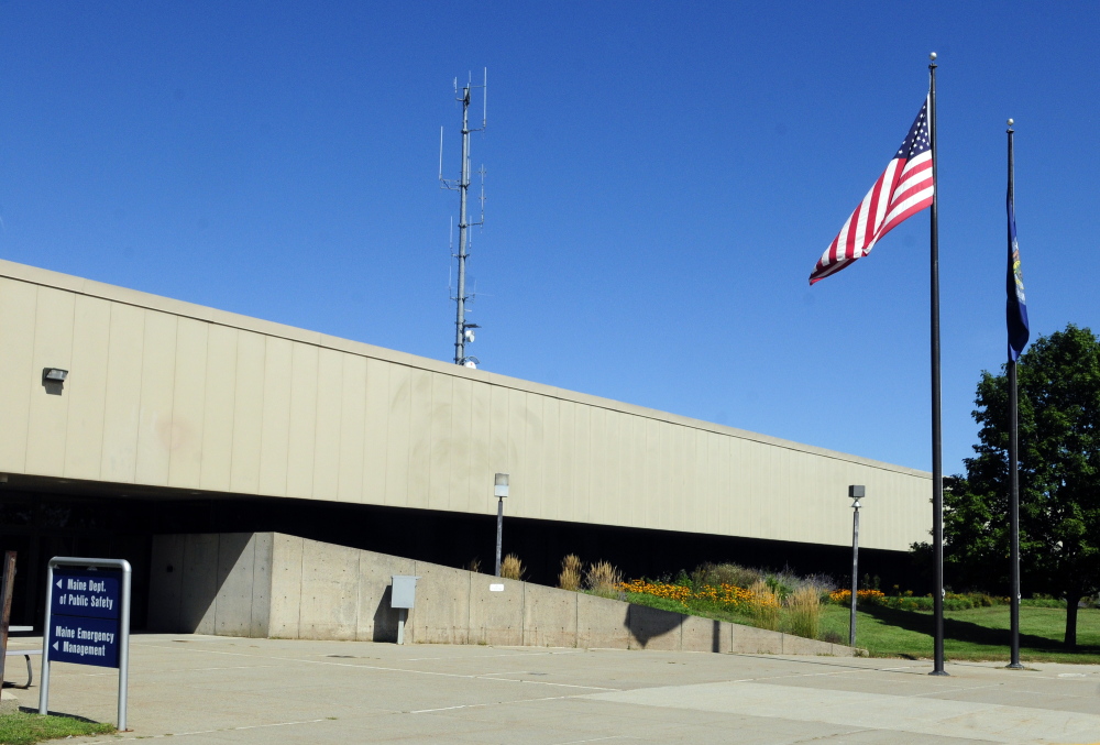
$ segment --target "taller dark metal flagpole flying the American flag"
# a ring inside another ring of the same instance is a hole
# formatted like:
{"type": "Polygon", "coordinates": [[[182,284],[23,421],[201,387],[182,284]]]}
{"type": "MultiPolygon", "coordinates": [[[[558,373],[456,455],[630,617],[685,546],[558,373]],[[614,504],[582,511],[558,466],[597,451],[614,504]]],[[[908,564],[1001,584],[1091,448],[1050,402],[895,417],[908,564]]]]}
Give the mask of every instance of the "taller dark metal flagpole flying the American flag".
{"type": "Polygon", "coordinates": [[[936,53],[928,65],[928,129],[932,134],[932,546],[934,568],[933,604],[936,616],[934,676],[944,670],[944,464],[939,412],[939,163],[936,158],[936,53]]]}

